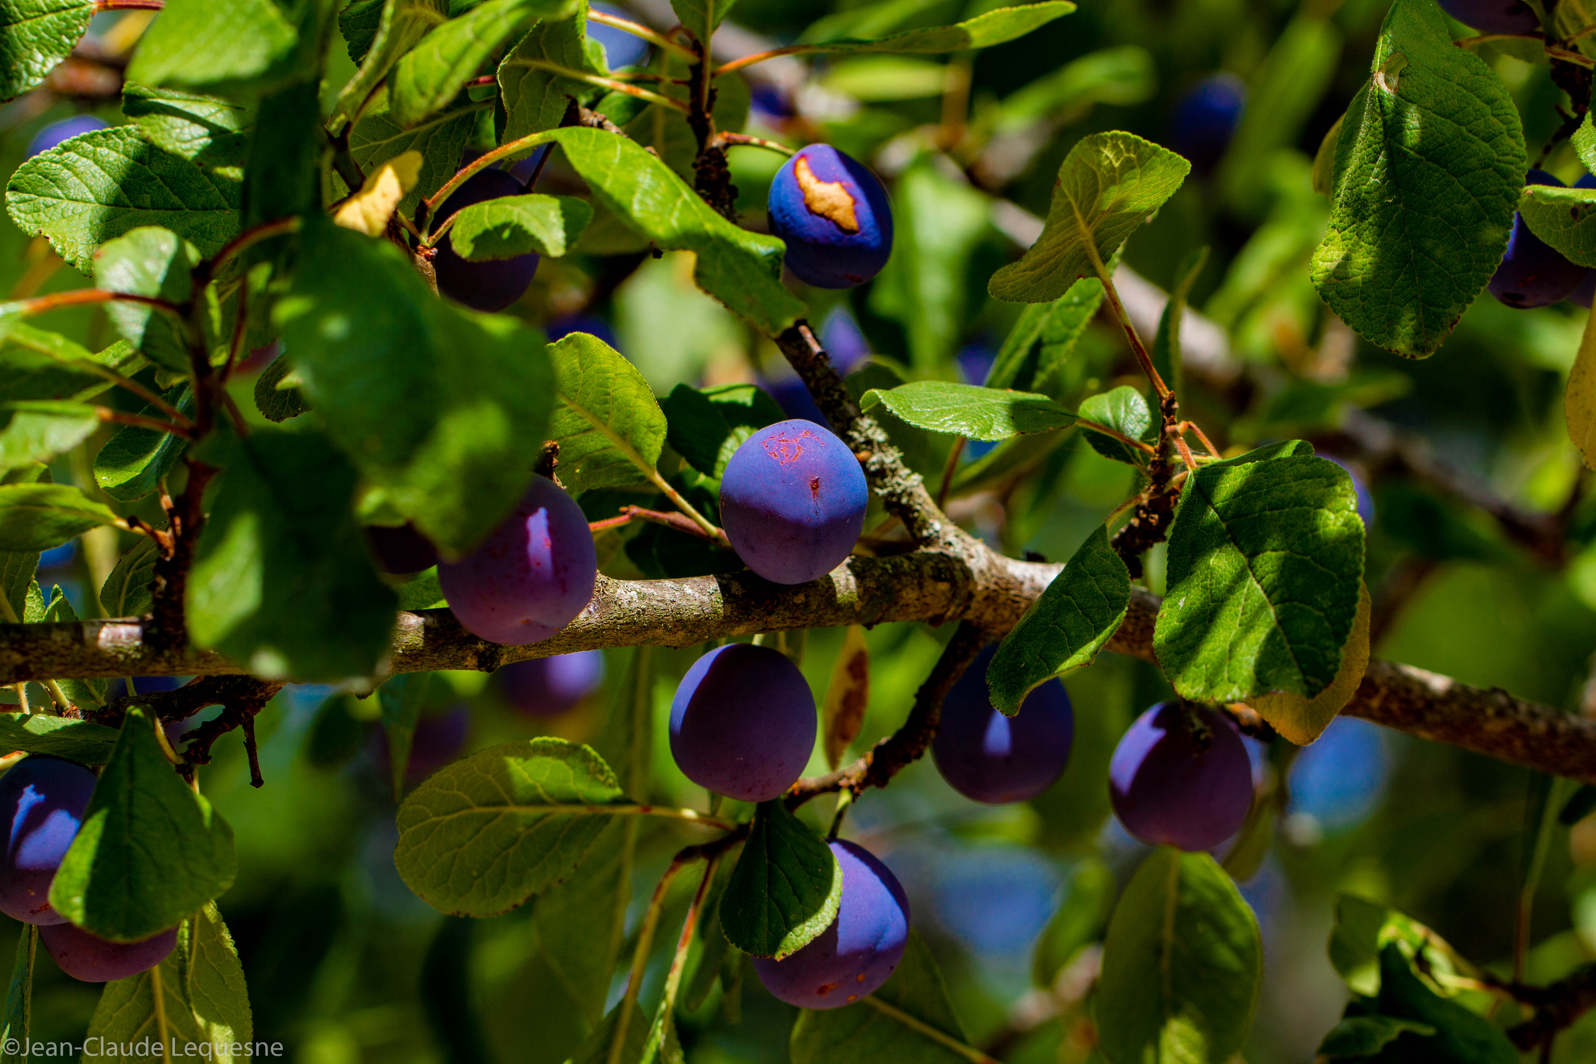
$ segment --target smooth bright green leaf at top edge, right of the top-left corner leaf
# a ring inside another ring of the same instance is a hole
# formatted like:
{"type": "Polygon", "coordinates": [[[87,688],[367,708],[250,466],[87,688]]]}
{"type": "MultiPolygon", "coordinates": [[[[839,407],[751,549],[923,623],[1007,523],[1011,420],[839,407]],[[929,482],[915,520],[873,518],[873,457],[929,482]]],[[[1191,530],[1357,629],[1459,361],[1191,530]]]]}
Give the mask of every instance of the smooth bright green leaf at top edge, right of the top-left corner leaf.
{"type": "Polygon", "coordinates": [[[294,54],[298,33],[273,0],[168,0],[139,38],[131,81],[238,89],[294,54]]]}

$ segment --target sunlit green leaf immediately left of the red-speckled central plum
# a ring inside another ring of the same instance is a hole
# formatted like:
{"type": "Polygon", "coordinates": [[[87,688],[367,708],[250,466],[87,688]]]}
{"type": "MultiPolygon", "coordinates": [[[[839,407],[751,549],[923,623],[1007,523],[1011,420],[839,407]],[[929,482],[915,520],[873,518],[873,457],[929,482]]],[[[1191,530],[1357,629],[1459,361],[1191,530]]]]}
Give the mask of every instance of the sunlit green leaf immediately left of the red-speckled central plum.
{"type": "Polygon", "coordinates": [[[637,367],[584,332],[551,343],[549,359],[560,399],[551,424],[560,480],[571,491],[650,480],[666,443],[666,413],[637,367]]]}

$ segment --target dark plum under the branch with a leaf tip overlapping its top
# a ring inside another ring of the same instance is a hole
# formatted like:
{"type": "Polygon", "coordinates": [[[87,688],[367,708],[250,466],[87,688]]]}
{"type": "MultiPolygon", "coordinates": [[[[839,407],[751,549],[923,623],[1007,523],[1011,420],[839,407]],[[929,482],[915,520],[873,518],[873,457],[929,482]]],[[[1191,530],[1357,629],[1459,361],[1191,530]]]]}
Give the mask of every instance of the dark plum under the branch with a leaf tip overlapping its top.
{"type": "Polygon", "coordinates": [[[978,802],[1001,806],[1036,798],[1069,763],[1076,715],[1065,684],[1049,680],[1025,696],[1020,713],[993,707],[986,667],[998,646],[983,649],[942,702],[942,724],[930,756],[942,778],[978,802]]]}

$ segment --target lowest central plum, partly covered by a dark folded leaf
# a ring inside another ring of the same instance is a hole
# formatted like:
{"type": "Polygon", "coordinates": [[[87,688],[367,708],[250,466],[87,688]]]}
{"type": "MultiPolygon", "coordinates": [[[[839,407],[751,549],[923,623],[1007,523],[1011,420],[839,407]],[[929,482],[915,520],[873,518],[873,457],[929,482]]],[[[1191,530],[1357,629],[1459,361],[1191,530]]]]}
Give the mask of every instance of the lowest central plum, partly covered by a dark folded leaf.
{"type": "Polygon", "coordinates": [[[873,994],[908,946],[908,897],[897,876],[855,842],[832,841],[843,866],[836,919],[803,949],[753,970],[771,994],[798,1008],[839,1008],[873,994]]]}

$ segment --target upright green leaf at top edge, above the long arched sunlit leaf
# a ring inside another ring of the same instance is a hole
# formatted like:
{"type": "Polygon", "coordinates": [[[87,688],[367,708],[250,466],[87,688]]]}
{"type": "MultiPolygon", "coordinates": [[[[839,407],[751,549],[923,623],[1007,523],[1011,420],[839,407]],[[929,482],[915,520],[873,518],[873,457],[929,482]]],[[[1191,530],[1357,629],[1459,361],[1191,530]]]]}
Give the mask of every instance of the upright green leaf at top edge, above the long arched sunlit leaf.
{"type": "Polygon", "coordinates": [[[608,77],[603,45],[587,37],[587,3],[568,19],[544,21],[520,38],[498,69],[506,124],[500,144],[554,129],[571,99],[592,104],[605,89],[568,73],[608,77]]]}

